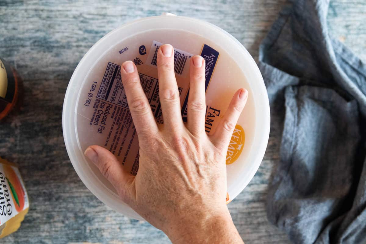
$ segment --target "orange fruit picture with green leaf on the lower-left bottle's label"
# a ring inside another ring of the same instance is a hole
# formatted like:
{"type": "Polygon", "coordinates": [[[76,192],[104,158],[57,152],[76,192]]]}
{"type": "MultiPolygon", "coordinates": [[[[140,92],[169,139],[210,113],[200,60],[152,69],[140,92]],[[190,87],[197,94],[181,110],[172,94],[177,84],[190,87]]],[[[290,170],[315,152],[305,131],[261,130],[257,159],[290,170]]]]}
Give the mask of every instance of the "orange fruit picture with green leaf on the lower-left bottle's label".
{"type": "Polygon", "coordinates": [[[14,169],[10,165],[3,165],[3,168],[15,209],[20,212],[23,210],[25,205],[25,191],[14,169]]]}

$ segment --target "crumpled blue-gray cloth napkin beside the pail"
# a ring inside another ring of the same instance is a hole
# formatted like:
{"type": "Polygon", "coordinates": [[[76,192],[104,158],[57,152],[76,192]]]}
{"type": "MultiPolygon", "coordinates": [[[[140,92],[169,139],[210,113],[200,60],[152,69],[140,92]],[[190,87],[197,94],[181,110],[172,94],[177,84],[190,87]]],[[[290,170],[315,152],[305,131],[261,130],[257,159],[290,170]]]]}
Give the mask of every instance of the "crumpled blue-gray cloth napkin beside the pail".
{"type": "Polygon", "coordinates": [[[283,126],[267,213],[294,243],[366,243],[366,65],[330,37],[328,5],[289,1],[259,49],[283,126]]]}

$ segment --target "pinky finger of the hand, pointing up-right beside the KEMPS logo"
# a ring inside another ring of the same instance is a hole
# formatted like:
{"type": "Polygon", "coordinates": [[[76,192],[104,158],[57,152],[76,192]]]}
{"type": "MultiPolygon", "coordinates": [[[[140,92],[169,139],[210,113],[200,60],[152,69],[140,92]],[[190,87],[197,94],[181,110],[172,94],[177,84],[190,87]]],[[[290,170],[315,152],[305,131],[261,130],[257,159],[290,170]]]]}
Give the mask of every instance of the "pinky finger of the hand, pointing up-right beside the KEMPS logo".
{"type": "Polygon", "coordinates": [[[212,143],[220,150],[226,152],[235,125],[238,122],[239,116],[242,113],[247,100],[248,91],[243,88],[236,91],[232,97],[223,119],[221,119],[216,131],[211,136],[212,143]]]}

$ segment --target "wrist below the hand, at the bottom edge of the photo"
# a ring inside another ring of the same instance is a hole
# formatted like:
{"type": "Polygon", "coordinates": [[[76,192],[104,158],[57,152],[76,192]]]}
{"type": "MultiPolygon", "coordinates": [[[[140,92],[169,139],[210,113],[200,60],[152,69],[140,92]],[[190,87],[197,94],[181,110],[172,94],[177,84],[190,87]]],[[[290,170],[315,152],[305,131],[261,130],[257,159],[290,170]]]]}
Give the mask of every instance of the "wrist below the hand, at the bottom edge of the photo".
{"type": "Polygon", "coordinates": [[[175,219],[163,231],[174,244],[242,242],[226,206],[220,211],[203,211],[175,219]]]}

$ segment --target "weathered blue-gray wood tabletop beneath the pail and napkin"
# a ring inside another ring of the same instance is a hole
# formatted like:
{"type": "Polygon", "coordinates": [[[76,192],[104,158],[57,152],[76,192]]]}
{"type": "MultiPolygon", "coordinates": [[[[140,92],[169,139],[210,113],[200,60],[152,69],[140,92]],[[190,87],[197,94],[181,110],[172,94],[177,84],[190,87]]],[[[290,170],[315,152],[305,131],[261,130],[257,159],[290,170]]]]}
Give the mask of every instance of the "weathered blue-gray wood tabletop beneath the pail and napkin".
{"type": "MultiPolygon", "coordinates": [[[[20,165],[31,201],[18,232],[0,243],[169,243],[149,223],[128,219],[101,203],[72,168],[61,128],[63,99],[72,72],[87,50],[109,31],[162,12],[220,26],[258,59],[258,45],[283,4],[285,0],[0,0],[0,56],[24,81],[22,108],[0,121],[0,156],[20,165]]],[[[365,0],[330,1],[330,33],[363,59],[365,13],[365,0]]],[[[229,204],[246,243],[288,243],[285,234],[268,222],[265,211],[280,138],[280,129],[272,126],[258,172],[229,204]]]]}

